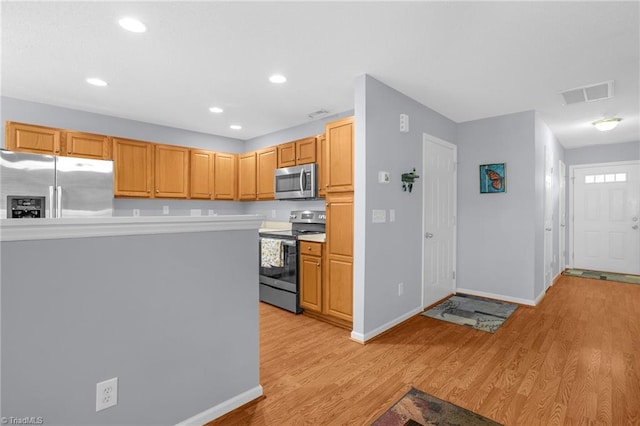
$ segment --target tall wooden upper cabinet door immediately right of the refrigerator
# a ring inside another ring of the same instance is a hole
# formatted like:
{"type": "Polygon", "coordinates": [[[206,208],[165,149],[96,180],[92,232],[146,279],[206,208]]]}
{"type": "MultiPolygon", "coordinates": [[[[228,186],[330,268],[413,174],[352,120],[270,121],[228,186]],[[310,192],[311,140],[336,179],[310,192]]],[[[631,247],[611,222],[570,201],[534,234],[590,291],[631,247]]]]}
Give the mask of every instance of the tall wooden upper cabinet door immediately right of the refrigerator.
{"type": "Polygon", "coordinates": [[[153,144],[114,138],[115,195],[153,198],[152,159],[153,144]]]}

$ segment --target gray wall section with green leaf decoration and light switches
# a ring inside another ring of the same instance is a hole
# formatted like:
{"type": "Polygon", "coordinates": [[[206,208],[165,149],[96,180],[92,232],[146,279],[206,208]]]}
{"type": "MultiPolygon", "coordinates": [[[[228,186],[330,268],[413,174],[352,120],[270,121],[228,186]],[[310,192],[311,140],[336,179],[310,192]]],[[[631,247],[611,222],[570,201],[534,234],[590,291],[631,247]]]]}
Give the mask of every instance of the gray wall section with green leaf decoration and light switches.
{"type": "Polygon", "coordinates": [[[422,185],[403,192],[400,175],[422,176],[422,135],[455,142],[455,123],[368,75],[355,82],[354,328],[369,339],[422,308],[422,185]],[[400,133],[400,114],[409,115],[400,133]],[[378,183],[378,171],[391,183],[378,183]],[[393,223],[372,223],[372,210],[395,209],[393,223]],[[398,283],[404,295],[398,296],[398,283]]]}

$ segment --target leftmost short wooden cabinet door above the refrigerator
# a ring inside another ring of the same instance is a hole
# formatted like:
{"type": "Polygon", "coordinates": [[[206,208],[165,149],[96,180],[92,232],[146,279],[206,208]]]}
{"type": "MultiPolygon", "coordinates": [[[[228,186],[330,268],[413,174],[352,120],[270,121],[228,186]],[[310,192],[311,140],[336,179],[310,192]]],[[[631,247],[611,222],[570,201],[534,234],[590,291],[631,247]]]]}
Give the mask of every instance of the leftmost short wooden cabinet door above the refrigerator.
{"type": "Polygon", "coordinates": [[[5,144],[10,151],[59,155],[61,133],[50,127],[7,122],[5,144]]]}

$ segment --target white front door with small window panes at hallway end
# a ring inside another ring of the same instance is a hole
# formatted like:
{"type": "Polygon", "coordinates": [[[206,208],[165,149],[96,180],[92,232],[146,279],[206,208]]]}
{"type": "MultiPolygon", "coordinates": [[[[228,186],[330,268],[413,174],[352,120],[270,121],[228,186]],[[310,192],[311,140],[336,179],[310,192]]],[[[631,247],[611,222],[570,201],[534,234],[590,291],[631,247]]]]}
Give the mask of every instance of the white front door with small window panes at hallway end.
{"type": "Polygon", "coordinates": [[[640,274],[640,162],[573,170],[575,268],[640,274]]]}

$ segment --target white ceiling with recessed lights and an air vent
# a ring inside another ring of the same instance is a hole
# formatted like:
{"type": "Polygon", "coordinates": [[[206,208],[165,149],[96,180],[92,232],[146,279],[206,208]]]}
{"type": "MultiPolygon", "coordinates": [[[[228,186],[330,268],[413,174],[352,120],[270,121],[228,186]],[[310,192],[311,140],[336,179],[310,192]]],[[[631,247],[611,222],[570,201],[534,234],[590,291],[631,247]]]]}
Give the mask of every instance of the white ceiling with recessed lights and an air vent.
{"type": "Polygon", "coordinates": [[[352,109],[366,73],[456,122],[536,110],[566,148],[640,140],[636,1],[1,7],[4,96],[246,140],[352,109]],[[125,15],[148,31],[122,30],[125,15]],[[562,105],[560,91],[606,80],[612,99],[562,105]],[[593,129],[605,115],[623,121],[593,129]]]}

